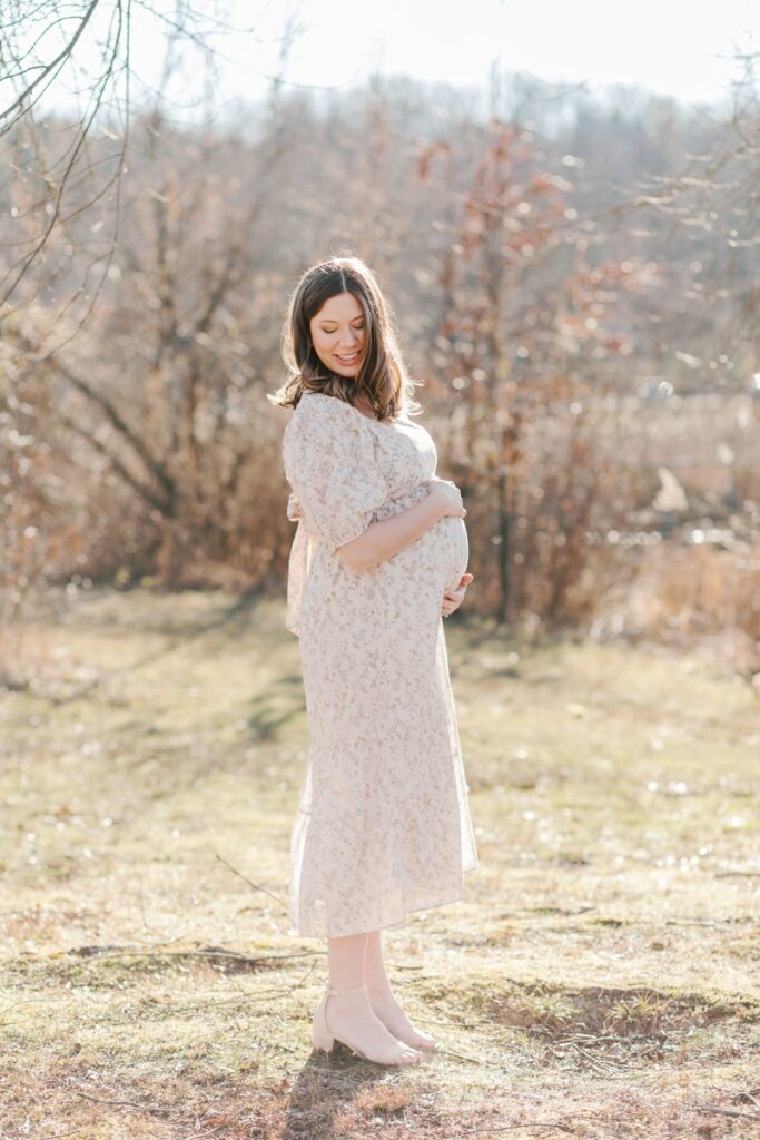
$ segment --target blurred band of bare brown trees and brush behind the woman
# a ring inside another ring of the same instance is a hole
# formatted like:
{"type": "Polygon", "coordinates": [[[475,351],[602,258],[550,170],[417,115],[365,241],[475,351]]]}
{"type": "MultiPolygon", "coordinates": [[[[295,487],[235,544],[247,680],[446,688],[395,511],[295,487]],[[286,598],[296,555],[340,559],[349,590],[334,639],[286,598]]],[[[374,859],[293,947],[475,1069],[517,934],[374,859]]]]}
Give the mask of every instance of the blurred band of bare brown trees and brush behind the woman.
{"type": "Polygon", "coordinates": [[[755,676],[757,59],[737,57],[727,115],[626,87],[605,104],[570,88],[558,108],[495,68],[485,112],[404,76],[279,74],[222,122],[213,7],[3,6],[7,630],[48,585],[284,592],[287,414],[267,393],[295,279],[351,251],[392,301],[467,502],[467,610],[698,637],[755,676]],[[166,55],[136,109],[138,16],[166,55]],[[103,67],[79,114],[52,111],[96,21],[103,67]],[[204,95],[182,121],[188,56],[204,95]]]}

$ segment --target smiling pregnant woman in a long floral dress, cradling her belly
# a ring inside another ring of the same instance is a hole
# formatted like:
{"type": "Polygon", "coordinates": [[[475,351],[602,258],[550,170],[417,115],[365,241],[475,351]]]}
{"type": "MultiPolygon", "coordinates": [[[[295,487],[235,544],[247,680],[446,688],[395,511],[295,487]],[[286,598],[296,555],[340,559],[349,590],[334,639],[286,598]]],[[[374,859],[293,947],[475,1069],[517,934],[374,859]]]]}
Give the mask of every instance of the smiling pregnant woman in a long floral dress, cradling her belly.
{"type": "Polygon", "coordinates": [[[391,991],[381,931],[463,897],[477,866],[441,614],[461,603],[466,511],[374,275],[332,258],[301,278],[271,397],[293,408],[283,462],[297,520],[286,625],[309,720],[289,912],[327,939],[313,1044],[406,1065],[435,1049],[391,991]]]}

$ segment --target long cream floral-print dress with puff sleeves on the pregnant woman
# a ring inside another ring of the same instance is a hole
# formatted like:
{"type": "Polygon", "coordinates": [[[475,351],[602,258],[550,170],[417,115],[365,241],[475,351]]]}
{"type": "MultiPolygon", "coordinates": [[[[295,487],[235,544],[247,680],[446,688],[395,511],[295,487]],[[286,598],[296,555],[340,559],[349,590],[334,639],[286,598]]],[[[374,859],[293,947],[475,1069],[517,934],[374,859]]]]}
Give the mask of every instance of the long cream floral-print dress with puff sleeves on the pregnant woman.
{"type": "Polygon", "coordinates": [[[441,519],[357,573],[336,547],[424,498],[438,455],[402,417],[304,393],[283,437],[297,519],[286,626],[299,636],[310,748],[291,837],[299,935],[400,926],[463,897],[477,866],[441,618],[467,567],[464,521],[441,519]]]}

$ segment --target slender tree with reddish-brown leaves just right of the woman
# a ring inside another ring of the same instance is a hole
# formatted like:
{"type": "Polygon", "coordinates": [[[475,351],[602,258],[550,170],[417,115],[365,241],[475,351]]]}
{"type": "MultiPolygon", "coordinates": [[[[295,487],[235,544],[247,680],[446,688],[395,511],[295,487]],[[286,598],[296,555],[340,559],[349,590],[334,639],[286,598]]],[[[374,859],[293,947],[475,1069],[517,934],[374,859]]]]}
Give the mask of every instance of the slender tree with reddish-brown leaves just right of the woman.
{"type": "Polygon", "coordinates": [[[548,622],[564,616],[604,467],[589,442],[590,396],[612,385],[610,360],[629,349],[614,303],[643,288],[639,264],[593,263],[572,188],[540,165],[530,131],[493,121],[441,274],[440,335],[451,385],[465,396],[451,450],[482,515],[481,538],[491,532],[496,573],[485,572],[502,622],[516,617],[515,585],[525,593],[526,578],[518,568],[531,554],[531,581],[540,559],[546,585],[541,613],[548,622]]]}

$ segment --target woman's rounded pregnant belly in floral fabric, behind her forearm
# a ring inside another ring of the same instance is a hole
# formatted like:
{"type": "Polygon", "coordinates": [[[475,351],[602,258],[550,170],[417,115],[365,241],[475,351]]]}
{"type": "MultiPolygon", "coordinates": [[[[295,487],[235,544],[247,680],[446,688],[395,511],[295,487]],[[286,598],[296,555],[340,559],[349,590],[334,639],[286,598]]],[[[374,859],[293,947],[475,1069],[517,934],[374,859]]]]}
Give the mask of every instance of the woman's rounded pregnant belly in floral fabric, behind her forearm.
{"type": "MultiPolygon", "coordinates": [[[[401,498],[390,499],[375,511],[373,519],[387,519],[392,514],[406,511],[427,496],[427,487],[420,484],[401,498]]],[[[389,562],[399,567],[417,568],[422,581],[431,581],[440,589],[441,600],[447,589],[457,589],[463,573],[467,569],[469,543],[464,519],[458,515],[446,515],[430,527],[419,538],[410,543],[389,562]]]]}

